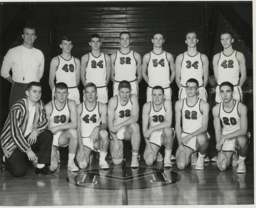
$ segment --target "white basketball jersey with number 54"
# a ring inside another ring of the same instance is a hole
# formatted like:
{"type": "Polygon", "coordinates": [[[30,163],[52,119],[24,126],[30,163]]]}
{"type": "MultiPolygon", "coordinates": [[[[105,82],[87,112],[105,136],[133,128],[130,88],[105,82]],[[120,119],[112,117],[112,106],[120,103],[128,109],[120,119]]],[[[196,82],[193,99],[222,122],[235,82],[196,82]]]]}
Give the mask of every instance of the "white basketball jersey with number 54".
{"type": "Polygon", "coordinates": [[[161,54],[150,52],[147,72],[149,86],[160,85],[163,88],[170,86],[170,67],[166,51],[163,51],[161,54]]]}

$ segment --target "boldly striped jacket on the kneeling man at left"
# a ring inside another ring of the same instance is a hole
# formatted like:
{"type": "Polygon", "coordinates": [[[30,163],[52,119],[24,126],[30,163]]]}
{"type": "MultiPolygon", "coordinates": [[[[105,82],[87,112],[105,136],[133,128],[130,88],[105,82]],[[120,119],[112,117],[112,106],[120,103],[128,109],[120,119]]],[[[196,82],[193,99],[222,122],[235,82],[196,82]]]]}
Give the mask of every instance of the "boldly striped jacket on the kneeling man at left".
{"type": "MultiPolygon", "coordinates": [[[[48,127],[44,104],[41,99],[36,103],[35,108],[33,130],[37,130],[39,135],[48,127]]],[[[24,137],[28,125],[28,114],[27,97],[17,101],[10,109],[0,137],[1,146],[7,158],[17,147],[25,153],[31,150],[30,145],[24,137]]]]}

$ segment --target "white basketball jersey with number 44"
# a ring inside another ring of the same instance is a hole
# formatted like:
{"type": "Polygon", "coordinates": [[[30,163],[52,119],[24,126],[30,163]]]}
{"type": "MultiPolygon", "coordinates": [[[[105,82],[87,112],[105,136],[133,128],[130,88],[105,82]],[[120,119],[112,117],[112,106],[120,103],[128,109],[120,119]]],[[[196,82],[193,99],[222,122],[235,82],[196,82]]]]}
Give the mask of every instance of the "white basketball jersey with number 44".
{"type": "Polygon", "coordinates": [[[85,102],[82,104],[82,113],[80,115],[81,132],[82,137],[90,137],[92,130],[100,125],[100,107],[99,102],[97,102],[95,108],[90,111],[86,108],[85,102]]]}

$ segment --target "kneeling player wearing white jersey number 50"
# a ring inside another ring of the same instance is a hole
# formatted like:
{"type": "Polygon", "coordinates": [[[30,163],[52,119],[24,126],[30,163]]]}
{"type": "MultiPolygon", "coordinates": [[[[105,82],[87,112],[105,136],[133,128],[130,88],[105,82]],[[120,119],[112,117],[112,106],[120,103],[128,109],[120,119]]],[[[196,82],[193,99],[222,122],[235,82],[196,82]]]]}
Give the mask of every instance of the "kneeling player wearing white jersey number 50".
{"type": "Polygon", "coordinates": [[[49,121],[48,128],[53,133],[51,170],[57,169],[58,166],[57,148],[66,146],[68,146],[69,152],[67,169],[71,171],[78,170],[74,163],[78,144],[76,102],[67,99],[68,94],[67,85],[63,82],[58,82],[54,90],[56,99],[45,105],[49,121]]]}

